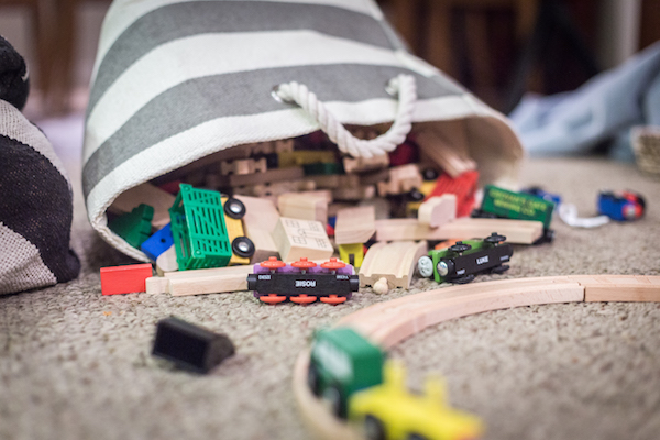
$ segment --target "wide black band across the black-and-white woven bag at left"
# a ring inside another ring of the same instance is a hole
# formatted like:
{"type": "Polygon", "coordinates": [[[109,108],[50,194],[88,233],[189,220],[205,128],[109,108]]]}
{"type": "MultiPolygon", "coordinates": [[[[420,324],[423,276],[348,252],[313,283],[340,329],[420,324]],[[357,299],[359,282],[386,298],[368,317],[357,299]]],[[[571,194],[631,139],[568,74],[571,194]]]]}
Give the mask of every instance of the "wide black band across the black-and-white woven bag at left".
{"type": "Polygon", "coordinates": [[[69,250],[73,195],[66,178],[32,146],[0,135],[0,221],[35,245],[58,283],[78,276],[69,250]]]}

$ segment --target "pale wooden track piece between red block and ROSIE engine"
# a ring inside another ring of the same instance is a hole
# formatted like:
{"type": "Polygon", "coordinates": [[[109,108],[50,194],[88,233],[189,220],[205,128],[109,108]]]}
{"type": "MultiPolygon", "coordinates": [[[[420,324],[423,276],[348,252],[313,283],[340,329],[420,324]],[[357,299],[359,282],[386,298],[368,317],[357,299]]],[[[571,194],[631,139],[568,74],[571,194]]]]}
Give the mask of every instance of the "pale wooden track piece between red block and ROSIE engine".
{"type": "Polygon", "coordinates": [[[220,294],[248,289],[252,265],[169,272],[169,293],[173,296],[220,294]]]}

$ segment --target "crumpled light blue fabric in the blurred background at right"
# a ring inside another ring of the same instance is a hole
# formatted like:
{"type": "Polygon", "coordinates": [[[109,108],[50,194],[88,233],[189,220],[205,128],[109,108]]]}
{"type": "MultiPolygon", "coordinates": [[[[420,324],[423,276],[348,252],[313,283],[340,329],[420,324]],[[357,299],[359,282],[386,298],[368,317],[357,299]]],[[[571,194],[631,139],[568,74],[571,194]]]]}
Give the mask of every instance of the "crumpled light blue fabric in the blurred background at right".
{"type": "Polygon", "coordinates": [[[529,95],[510,114],[532,156],[570,155],[614,140],[612,155],[631,160],[634,125],[660,125],[660,42],[571,92],[529,95]]]}

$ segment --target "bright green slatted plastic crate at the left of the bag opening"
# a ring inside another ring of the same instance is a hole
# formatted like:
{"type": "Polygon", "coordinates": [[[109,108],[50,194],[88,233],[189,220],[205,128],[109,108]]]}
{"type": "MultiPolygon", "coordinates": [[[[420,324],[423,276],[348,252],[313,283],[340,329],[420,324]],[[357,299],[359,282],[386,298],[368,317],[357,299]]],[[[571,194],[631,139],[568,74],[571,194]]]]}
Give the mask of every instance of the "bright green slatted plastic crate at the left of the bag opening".
{"type": "Polygon", "coordinates": [[[223,267],[231,258],[220,193],[179,185],[172,208],[172,235],[179,271],[223,267]]]}

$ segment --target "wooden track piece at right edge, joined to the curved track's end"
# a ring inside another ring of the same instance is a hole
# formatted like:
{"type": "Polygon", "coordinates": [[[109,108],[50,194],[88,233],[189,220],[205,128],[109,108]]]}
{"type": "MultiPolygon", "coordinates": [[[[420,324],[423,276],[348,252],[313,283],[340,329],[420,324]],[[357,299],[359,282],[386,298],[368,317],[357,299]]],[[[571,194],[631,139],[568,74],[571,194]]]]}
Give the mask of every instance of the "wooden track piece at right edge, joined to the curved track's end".
{"type": "Polygon", "coordinates": [[[571,275],[585,287],[585,301],[660,301],[660,276],[571,275]]]}

